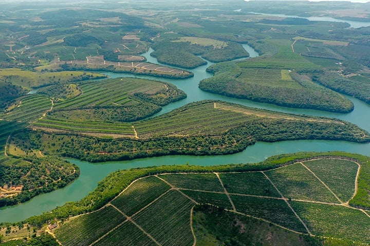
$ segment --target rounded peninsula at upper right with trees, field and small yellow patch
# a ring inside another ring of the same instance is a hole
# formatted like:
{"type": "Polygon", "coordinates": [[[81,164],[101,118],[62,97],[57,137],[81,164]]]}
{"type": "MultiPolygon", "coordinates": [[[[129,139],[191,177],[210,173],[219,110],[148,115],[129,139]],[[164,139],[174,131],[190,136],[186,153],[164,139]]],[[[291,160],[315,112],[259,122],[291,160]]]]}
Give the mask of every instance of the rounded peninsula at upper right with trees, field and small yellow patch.
{"type": "Polygon", "coordinates": [[[201,90],[291,108],[348,113],[354,106],[344,96],[316,85],[286,68],[216,64],[214,76],[200,81],[201,90]]]}

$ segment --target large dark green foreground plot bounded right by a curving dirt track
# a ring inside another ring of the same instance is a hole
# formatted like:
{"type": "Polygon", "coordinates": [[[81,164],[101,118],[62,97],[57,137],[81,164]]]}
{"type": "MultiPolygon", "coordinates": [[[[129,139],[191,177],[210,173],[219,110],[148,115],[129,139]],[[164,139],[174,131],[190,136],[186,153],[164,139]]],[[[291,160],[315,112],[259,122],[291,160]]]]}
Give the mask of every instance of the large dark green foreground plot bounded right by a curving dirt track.
{"type": "Polygon", "coordinates": [[[194,203],[172,190],[133,217],[147,233],[163,246],[191,246],[190,212],[194,203]]]}

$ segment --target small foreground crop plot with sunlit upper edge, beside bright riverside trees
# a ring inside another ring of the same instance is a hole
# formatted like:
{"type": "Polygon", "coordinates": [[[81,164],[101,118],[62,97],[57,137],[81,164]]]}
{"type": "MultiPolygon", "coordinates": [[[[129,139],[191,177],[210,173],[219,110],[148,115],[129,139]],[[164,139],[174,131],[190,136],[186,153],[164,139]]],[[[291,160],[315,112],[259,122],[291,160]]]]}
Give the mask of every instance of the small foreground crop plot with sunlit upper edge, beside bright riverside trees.
{"type": "Polygon", "coordinates": [[[150,176],[132,183],[120,196],[112,201],[123,213],[132,216],[147,204],[170,189],[165,182],[150,176]]]}

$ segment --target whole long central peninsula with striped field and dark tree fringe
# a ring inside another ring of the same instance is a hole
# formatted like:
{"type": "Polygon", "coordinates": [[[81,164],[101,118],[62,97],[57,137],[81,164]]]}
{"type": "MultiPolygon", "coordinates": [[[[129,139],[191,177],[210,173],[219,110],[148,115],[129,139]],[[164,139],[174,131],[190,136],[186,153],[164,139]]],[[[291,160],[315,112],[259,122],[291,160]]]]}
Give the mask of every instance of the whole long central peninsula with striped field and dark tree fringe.
{"type": "MultiPolygon", "coordinates": [[[[59,115],[65,115],[65,111],[59,115]]],[[[25,132],[14,135],[14,139],[27,142],[32,139],[37,143],[33,148],[41,151],[105,161],[169,154],[230,154],[244,150],[255,141],[367,142],[370,138],[367,132],[342,120],[278,113],[223,101],[200,101],[131,123],[81,122],[50,116],[32,124],[33,128],[43,131],[41,134],[25,132]],[[223,120],[225,117],[227,121],[223,120]],[[58,137],[52,134],[54,132],[58,137]]]]}

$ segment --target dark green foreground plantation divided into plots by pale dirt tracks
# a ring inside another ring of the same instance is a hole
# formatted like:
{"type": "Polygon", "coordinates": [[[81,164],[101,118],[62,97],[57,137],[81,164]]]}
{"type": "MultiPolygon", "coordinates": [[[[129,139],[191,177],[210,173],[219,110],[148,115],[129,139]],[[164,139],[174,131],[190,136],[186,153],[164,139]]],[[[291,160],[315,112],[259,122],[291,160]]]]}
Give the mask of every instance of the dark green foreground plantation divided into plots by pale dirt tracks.
{"type": "Polygon", "coordinates": [[[69,241],[76,237],[68,233],[78,227],[87,233],[86,227],[92,230],[89,233],[97,235],[86,243],[83,236],[78,236],[75,241],[78,245],[121,245],[122,241],[125,245],[196,245],[192,208],[198,203],[208,203],[295,233],[370,242],[370,216],[349,207],[347,200],[332,199],[337,195],[329,188],[336,186],[337,192],[345,180],[346,197],[350,192],[353,195],[358,167],[352,160],[332,157],[296,162],[270,171],[149,176],[134,181],[106,208],[66,222],[55,235],[62,245],[70,245],[69,241]],[[328,179],[330,172],[325,170],[330,168],[334,168],[332,174],[336,169],[344,170],[345,176],[341,179],[343,174],[338,173],[333,180],[328,179]],[[297,185],[298,176],[305,178],[289,193],[297,185]],[[309,196],[305,195],[307,188],[312,190],[309,196]],[[306,200],[293,195],[301,193],[306,200]],[[102,218],[98,219],[98,215],[102,218]],[[113,219],[114,216],[119,219],[113,219]],[[95,220],[101,224],[93,229],[87,222],[95,220]]]}

